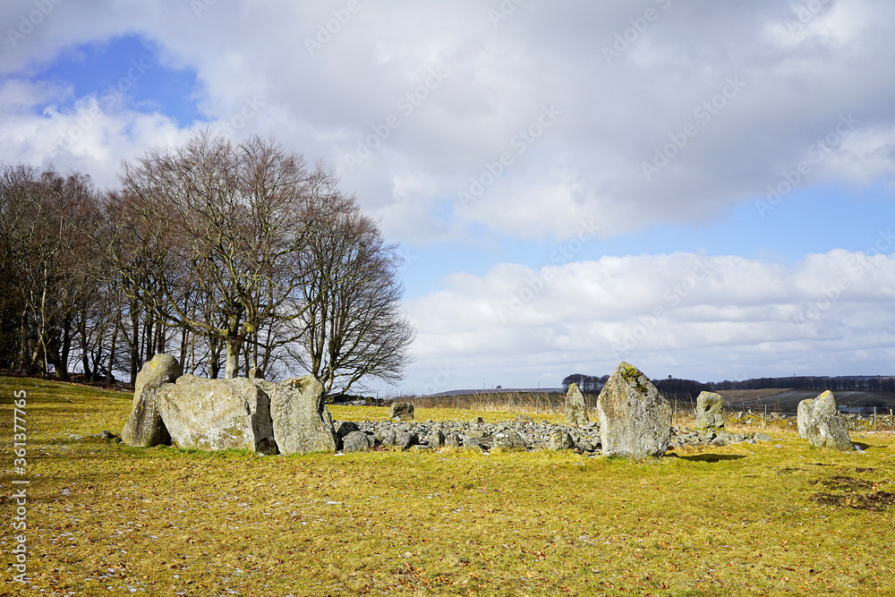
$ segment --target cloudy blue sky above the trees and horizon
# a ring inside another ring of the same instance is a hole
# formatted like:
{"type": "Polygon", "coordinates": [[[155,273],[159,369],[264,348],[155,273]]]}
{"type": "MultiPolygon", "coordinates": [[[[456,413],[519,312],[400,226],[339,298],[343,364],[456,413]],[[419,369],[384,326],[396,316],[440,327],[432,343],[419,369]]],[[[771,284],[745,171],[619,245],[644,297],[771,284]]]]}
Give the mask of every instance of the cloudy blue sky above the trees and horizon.
{"type": "Polygon", "coordinates": [[[13,0],[0,161],[115,188],[209,129],[332,166],[404,257],[379,395],[895,374],[888,0],[13,0]]]}

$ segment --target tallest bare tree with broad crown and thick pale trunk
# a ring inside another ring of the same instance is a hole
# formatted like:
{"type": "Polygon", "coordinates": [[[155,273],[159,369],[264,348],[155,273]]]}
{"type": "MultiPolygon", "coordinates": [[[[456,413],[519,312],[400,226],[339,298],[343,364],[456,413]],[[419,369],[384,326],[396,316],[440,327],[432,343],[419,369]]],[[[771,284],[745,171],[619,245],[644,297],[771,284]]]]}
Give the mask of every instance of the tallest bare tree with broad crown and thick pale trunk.
{"type": "MultiPolygon", "coordinates": [[[[133,198],[122,204],[122,221],[154,223],[144,232],[160,235],[165,258],[175,261],[157,286],[130,282],[166,321],[222,341],[227,378],[239,371],[245,339],[294,296],[301,281],[295,254],[313,217],[308,193],[326,176],[272,142],[234,145],[208,132],[122,167],[133,198]],[[206,308],[184,309],[188,294],[206,308]]],[[[133,240],[145,244],[145,236],[133,240]]],[[[126,265],[122,257],[115,260],[126,265]]]]}

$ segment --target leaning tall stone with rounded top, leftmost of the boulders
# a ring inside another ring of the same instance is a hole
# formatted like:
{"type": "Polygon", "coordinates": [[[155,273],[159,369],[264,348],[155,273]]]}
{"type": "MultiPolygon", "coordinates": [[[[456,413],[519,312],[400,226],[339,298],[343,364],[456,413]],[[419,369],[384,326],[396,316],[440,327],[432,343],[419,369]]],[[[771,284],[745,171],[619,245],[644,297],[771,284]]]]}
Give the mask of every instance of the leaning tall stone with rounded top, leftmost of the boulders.
{"type": "Polygon", "coordinates": [[[151,448],[171,443],[171,436],[158,412],[156,394],[163,384],[172,383],[183,370],[170,354],[156,354],[137,373],[133,388],[131,414],[124,423],[121,440],[130,446],[151,448]]]}

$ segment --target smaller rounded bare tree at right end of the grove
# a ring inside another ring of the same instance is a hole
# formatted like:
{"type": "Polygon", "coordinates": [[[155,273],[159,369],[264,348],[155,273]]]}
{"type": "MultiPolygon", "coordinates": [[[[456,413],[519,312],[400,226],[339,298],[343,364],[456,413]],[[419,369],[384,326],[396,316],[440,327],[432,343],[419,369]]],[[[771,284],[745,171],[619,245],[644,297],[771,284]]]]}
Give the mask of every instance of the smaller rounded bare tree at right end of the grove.
{"type": "Polygon", "coordinates": [[[396,247],[354,198],[340,200],[342,209],[317,219],[302,254],[303,333],[293,351],[328,393],[347,392],[365,378],[399,380],[414,337],[400,309],[396,247]]]}

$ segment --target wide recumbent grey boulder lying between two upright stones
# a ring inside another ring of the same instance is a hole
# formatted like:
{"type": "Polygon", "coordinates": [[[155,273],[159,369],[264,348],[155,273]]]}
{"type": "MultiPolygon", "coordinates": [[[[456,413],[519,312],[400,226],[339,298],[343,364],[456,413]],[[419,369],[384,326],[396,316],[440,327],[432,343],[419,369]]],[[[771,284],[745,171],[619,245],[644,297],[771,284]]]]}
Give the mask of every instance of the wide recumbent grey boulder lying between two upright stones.
{"type": "Polygon", "coordinates": [[[252,380],[183,375],[158,388],[158,410],[181,448],[275,454],[270,398],[252,380]]]}

